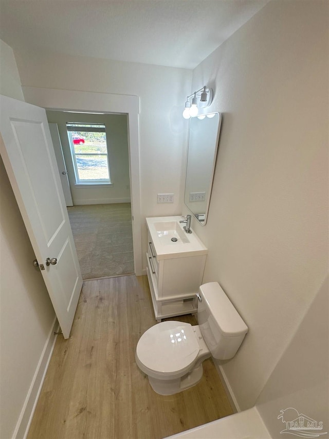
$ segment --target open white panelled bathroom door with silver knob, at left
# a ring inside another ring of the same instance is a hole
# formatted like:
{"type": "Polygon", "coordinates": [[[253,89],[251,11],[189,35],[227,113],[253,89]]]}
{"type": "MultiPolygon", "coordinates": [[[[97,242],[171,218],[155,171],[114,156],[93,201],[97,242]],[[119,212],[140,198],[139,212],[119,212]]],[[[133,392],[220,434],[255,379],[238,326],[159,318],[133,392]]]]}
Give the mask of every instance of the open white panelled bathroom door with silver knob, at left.
{"type": "Polygon", "coordinates": [[[46,112],[6,96],[0,96],[0,111],[0,153],[63,336],[68,338],[82,276],[46,112]]]}

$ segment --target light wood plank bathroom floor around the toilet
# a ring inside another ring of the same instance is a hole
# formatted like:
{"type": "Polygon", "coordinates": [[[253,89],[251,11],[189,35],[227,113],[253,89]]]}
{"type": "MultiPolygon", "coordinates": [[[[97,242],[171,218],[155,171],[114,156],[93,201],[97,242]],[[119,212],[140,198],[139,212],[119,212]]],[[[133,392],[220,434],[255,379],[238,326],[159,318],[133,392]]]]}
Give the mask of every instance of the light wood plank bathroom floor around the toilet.
{"type": "MultiPolygon", "coordinates": [[[[167,320],[196,324],[192,315],[167,320]]],[[[232,414],[211,359],[193,388],[152,390],[135,349],[154,324],[147,276],[86,281],[70,338],[57,338],[28,438],[162,438],[232,414]]]]}

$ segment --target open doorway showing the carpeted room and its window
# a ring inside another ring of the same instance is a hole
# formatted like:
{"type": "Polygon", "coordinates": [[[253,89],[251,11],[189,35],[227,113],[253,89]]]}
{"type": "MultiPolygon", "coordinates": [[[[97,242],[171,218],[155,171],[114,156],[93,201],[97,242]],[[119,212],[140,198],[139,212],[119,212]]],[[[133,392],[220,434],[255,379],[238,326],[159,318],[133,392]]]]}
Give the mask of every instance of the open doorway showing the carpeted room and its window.
{"type": "Polygon", "coordinates": [[[127,116],[46,114],[65,162],[62,184],[72,195],[67,210],[83,279],[134,273],[127,116]]]}

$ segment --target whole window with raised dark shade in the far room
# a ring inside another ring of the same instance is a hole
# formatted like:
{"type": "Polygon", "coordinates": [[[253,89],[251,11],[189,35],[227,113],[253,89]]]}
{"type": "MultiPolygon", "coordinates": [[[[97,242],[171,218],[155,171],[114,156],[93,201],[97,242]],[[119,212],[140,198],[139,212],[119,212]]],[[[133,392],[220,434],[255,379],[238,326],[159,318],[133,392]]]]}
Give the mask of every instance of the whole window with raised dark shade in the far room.
{"type": "Polygon", "coordinates": [[[105,125],[67,122],[77,184],[110,184],[105,125]]]}

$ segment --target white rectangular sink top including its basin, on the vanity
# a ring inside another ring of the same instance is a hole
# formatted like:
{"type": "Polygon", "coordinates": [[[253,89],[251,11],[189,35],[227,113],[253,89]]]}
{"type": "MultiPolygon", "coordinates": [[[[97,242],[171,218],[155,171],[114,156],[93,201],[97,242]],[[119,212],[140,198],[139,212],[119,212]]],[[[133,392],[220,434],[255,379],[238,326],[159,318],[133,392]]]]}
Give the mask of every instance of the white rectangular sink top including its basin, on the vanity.
{"type": "Polygon", "coordinates": [[[183,230],[185,224],[179,222],[182,219],[180,216],[146,219],[158,260],[207,254],[193,229],[189,234],[183,230]]]}

